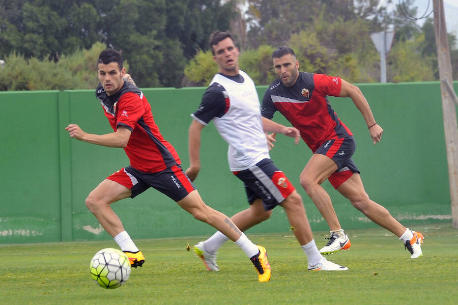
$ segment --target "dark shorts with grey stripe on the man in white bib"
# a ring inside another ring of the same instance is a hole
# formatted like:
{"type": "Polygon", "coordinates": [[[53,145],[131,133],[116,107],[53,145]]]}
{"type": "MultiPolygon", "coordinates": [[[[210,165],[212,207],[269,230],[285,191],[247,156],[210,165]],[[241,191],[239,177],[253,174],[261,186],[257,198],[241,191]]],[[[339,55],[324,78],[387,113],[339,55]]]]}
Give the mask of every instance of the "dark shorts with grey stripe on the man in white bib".
{"type": "Polygon", "coordinates": [[[260,198],[266,211],[279,205],[295,190],[271,159],[264,159],[246,170],[233,173],[244,182],[249,204],[260,198]]]}

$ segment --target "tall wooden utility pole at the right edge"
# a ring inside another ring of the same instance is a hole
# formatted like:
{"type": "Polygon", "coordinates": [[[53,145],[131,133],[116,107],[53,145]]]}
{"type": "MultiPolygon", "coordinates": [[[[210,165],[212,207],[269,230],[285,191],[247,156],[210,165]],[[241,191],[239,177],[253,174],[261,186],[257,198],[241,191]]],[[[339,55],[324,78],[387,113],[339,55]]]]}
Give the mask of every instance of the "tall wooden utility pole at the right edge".
{"type": "Polygon", "coordinates": [[[436,34],[437,61],[441,84],[442,114],[444,119],[445,145],[447,150],[448,180],[450,186],[452,226],[458,229],[458,126],[453,100],[453,78],[445,25],[443,0],[433,0],[434,32],[436,34]]]}

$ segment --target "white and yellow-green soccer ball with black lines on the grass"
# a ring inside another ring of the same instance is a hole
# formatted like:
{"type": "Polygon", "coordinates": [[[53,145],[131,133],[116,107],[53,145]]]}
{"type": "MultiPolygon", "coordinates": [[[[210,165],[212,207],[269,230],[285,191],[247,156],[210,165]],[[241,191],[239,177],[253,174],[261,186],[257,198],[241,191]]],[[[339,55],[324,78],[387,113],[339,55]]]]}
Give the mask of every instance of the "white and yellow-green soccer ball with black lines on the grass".
{"type": "Polygon", "coordinates": [[[118,288],[130,275],[130,263],[124,252],[105,248],[97,252],[91,260],[91,276],[103,288],[118,288]]]}

